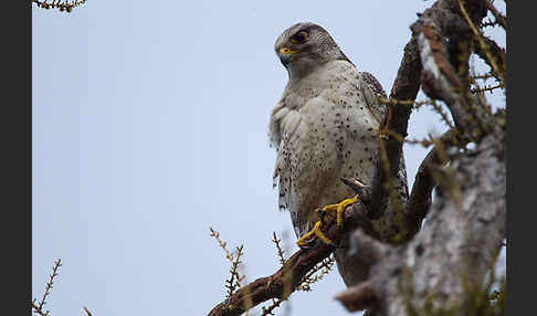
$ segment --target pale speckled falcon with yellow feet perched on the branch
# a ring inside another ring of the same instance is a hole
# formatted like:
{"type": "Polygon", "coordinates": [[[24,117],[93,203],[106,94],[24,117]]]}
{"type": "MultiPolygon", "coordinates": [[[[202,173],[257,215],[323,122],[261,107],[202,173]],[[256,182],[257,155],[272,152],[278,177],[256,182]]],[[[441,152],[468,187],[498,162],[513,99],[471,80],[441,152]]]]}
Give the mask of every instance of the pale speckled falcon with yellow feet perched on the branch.
{"type": "MultiPolygon", "coordinates": [[[[331,243],[322,231],[320,214],[335,212],[341,225],[345,208],[359,200],[340,181],[343,177],[371,183],[379,128],[387,115],[378,98],[386,93],[317,24],[292,25],[277,38],[274,50],[288,74],[268,124],[270,141],[277,151],[278,208],[289,211],[299,246],[315,238],[331,243]]],[[[394,188],[400,198],[408,198],[402,157],[394,188]]],[[[393,210],[387,213],[373,224],[379,231],[397,230],[393,210]]],[[[336,251],[336,262],[347,286],[367,276],[344,252],[336,251]]]]}

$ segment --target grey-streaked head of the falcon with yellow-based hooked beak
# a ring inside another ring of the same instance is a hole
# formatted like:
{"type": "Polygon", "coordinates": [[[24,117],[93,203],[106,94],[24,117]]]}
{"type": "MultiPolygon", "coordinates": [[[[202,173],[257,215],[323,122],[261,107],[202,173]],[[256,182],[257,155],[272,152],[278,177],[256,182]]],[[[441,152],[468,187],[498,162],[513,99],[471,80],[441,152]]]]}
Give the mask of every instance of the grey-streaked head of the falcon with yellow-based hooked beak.
{"type": "Polygon", "coordinates": [[[312,22],[299,22],[283,31],[274,50],[292,77],[303,76],[334,60],[350,63],[330,34],[312,22]]]}

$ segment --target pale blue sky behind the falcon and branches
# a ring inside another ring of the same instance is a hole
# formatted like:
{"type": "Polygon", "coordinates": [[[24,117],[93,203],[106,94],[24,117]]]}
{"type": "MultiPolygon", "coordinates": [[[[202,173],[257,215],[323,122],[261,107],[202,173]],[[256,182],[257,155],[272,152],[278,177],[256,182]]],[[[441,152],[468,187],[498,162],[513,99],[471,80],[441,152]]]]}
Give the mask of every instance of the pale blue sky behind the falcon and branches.
{"type": "MultiPolygon", "coordinates": [[[[273,52],[324,25],[389,92],[415,12],[432,1],[88,1],[33,9],[33,296],[62,259],[53,315],[206,315],[244,244],[250,281],[278,267],[287,213],[272,188],[268,114],[287,74],[273,52]]],[[[498,94],[496,94],[498,95],[498,94]]],[[[498,97],[498,96],[496,96],[498,97]]],[[[444,130],[427,108],[410,137],[444,130]]],[[[406,147],[410,183],[427,150],[406,147]]],[[[346,315],[337,272],[293,315],[346,315]]],[[[276,312],[283,315],[284,309],[276,312]]]]}

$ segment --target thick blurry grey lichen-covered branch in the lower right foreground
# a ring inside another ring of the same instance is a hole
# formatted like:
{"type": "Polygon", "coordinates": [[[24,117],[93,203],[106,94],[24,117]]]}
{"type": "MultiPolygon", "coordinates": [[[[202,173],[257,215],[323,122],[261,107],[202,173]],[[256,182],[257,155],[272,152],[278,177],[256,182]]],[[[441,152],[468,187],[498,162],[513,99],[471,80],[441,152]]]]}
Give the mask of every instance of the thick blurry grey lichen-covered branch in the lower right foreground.
{"type": "MultiPolygon", "coordinates": [[[[461,183],[462,201],[454,201],[449,192],[438,197],[428,223],[414,239],[387,250],[388,255],[372,265],[367,282],[337,296],[344,306],[369,308],[369,315],[411,315],[408,308],[420,309],[429,302],[435,310],[455,306],[461,308],[456,315],[474,315],[464,309],[472,308],[465,302],[468,285],[484,285],[506,232],[502,144],[497,135],[488,135],[472,156],[460,154],[452,160],[449,172],[461,183]]],[[[379,243],[360,231],[350,239],[359,243],[350,249],[358,254],[379,243]]]]}

